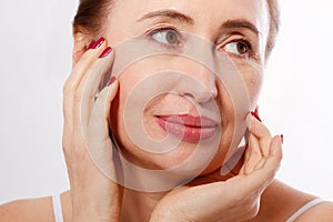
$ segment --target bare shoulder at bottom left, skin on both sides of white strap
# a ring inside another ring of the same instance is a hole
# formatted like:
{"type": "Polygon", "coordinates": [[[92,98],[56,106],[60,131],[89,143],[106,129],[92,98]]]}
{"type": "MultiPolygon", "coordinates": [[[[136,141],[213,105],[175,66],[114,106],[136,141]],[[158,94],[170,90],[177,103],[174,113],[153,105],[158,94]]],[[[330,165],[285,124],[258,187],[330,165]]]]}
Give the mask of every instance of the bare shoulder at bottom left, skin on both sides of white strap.
{"type": "MultiPolygon", "coordinates": [[[[71,218],[70,192],[61,194],[64,221],[71,218]]],[[[52,196],[18,200],[0,205],[0,221],[54,222],[52,196]]]]}

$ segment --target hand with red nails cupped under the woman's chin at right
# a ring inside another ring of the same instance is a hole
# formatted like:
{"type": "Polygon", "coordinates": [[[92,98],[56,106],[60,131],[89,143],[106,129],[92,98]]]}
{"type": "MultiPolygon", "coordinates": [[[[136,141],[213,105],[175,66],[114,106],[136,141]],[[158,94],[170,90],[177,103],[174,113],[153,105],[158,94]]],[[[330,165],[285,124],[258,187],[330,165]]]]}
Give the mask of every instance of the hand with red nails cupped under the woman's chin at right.
{"type": "MultiPolygon", "coordinates": [[[[249,114],[249,144],[239,174],[220,171],[168,193],[151,221],[245,221],[260,209],[260,198],[273,181],[282,159],[282,138],[249,114]],[[225,180],[225,181],[224,181],[225,180]]],[[[235,153],[239,155],[240,153],[235,153]]]]}

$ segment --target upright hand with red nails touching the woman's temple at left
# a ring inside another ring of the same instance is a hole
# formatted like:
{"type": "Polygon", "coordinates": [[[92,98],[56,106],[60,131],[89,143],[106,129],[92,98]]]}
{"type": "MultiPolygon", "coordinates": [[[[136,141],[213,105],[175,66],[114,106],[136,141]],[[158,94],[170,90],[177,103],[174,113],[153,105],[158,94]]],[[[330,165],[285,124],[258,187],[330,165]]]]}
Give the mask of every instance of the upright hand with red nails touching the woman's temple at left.
{"type": "Polygon", "coordinates": [[[99,91],[114,53],[104,39],[92,42],[63,88],[63,152],[73,221],[119,221],[122,190],[107,175],[114,173],[109,113],[119,83],[113,78],[99,91]],[[101,172],[97,164],[102,164],[101,172]]]}

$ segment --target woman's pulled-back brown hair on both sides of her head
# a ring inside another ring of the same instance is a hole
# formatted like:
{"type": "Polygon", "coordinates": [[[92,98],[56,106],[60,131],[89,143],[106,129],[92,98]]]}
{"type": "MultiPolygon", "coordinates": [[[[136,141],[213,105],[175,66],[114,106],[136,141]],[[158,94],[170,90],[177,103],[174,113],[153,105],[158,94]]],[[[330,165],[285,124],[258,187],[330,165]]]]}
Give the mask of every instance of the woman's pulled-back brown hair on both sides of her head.
{"type": "MultiPolygon", "coordinates": [[[[78,12],[73,20],[73,34],[84,32],[97,39],[105,31],[105,20],[114,0],[80,0],[78,12]]],[[[270,14],[270,33],[265,49],[269,58],[274,46],[280,28],[280,10],[278,0],[268,0],[270,14]]]]}

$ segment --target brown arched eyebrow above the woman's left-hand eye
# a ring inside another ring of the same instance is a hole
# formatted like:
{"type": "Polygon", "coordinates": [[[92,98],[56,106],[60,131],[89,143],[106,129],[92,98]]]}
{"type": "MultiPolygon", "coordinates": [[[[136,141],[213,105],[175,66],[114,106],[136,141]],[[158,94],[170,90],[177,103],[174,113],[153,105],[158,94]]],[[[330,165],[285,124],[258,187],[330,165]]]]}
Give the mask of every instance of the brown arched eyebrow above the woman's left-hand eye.
{"type": "Polygon", "coordinates": [[[144,14],[143,17],[141,17],[140,19],[138,19],[137,21],[143,21],[145,19],[153,19],[155,17],[167,17],[167,18],[171,18],[171,19],[178,19],[178,20],[189,23],[189,24],[194,23],[194,20],[191,17],[183,14],[175,10],[170,10],[170,9],[149,12],[149,13],[144,14]]]}

